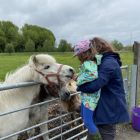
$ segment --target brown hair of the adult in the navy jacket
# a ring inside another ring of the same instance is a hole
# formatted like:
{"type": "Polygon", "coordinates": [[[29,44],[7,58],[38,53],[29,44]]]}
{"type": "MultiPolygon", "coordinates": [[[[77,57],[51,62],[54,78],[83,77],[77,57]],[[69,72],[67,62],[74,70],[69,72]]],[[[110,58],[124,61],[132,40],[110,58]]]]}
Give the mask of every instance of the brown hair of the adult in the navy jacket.
{"type": "Polygon", "coordinates": [[[96,47],[96,50],[99,54],[104,52],[114,52],[112,45],[100,37],[94,37],[91,42],[93,46],[96,47]]]}

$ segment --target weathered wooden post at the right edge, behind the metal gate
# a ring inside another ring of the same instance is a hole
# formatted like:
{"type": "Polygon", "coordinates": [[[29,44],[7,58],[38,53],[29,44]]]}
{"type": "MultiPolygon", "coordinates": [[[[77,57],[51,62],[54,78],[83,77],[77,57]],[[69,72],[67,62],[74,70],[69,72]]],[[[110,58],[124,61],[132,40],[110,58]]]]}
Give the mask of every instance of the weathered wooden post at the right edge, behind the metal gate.
{"type": "Polygon", "coordinates": [[[134,64],[137,65],[136,73],[136,105],[140,105],[140,43],[135,41],[133,45],[134,64]]]}

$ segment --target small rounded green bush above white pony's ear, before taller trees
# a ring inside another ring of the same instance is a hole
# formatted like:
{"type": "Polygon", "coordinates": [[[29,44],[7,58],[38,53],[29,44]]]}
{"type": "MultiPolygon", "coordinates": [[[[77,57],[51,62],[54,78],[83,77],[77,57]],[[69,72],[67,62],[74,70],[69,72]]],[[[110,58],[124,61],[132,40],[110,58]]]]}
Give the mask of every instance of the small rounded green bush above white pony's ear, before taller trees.
{"type": "Polygon", "coordinates": [[[28,41],[25,44],[25,51],[26,52],[34,52],[35,51],[35,43],[33,40],[28,39],[28,41]]]}

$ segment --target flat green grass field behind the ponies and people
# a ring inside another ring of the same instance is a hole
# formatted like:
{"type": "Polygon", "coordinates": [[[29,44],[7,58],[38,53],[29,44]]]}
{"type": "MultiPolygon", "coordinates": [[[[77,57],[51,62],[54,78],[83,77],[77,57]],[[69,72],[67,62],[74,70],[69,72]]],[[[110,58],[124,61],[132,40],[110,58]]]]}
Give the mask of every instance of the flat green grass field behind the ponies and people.
{"type": "MultiPolygon", "coordinates": [[[[4,80],[7,72],[13,71],[18,67],[27,63],[30,55],[35,53],[15,53],[15,54],[0,54],[0,81],[4,80]]],[[[79,61],[77,58],[72,57],[73,53],[49,53],[54,56],[57,62],[67,64],[76,69],[78,72],[79,61]]],[[[131,65],[133,63],[132,52],[120,53],[123,65],[131,65]]]]}

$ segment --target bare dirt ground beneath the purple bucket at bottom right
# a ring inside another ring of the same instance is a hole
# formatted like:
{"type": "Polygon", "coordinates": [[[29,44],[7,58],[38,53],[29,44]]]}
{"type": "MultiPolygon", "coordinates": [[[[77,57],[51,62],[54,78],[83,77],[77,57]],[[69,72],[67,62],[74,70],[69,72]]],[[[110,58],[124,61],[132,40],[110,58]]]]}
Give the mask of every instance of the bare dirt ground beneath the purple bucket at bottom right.
{"type": "Polygon", "coordinates": [[[140,132],[135,131],[132,125],[117,126],[117,133],[115,140],[140,140],[140,132]]]}

